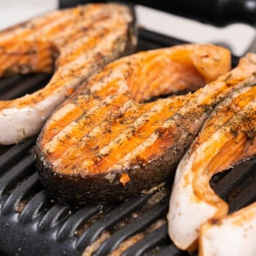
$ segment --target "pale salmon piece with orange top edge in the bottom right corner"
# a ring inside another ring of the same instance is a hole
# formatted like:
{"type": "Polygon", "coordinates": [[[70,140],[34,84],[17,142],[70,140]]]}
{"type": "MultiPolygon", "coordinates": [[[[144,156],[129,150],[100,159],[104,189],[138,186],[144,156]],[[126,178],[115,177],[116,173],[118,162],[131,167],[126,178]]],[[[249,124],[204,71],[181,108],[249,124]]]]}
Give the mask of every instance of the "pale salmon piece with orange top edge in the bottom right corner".
{"type": "Polygon", "coordinates": [[[256,203],[200,229],[200,256],[256,255],[256,203]]]}

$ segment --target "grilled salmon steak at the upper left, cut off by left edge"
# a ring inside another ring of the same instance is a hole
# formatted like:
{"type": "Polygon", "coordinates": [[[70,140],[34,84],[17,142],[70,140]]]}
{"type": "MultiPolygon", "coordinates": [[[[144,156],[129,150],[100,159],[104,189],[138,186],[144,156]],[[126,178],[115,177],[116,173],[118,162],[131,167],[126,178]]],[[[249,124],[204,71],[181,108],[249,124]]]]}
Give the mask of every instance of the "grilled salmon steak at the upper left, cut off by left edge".
{"type": "Polygon", "coordinates": [[[51,12],[0,32],[0,76],[53,72],[44,89],[0,101],[0,144],[37,134],[83,80],[135,46],[133,16],[118,4],[51,12]]]}

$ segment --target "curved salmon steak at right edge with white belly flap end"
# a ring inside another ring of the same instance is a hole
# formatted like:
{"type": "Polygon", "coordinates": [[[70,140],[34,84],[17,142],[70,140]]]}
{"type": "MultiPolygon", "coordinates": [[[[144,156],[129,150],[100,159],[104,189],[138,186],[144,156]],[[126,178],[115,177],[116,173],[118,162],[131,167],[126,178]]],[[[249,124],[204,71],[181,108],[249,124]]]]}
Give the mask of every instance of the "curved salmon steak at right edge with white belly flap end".
{"type": "Polygon", "coordinates": [[[176,171],[167,217],[170,238],[181,249],[195,243],[206,221],[227,215],[227,203],[211,189],[211,177],[256,154],[256,56],[242,61],[253,62],[251,75],[248,69],[238,80],[234,71],[239,66],[230,72],[226,83],[233,90],[211,113],[176,171]]]}

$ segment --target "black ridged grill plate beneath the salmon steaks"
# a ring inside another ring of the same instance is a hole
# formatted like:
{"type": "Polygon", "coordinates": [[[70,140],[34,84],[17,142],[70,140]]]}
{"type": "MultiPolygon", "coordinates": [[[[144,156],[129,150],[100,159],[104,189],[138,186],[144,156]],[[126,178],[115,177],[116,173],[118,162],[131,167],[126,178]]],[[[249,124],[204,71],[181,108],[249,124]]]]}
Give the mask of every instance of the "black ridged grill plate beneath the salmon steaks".
{"type": "MultiPolygon", "coordinates": [[[[178,45],[183,41],[140,28],[138,50],[178,45]]],[[[238,59],[233,56],[233,65],[238,59]]],[[[31,93],[50,75],[16,75],[0,80],[0,99],[31,93]]],[[[61,206],[39,183],[35,165],[36,137],[15,146],[0,146],[0,251],[7,255],[178,256],[167,236],[168,188],[117,205],[61,206]]],[[[256,200],[256,158],[211,179],[229,203],[230,212],[256,200]]],[[[170,184],[167,186],[170,189],[170,184]]]]}

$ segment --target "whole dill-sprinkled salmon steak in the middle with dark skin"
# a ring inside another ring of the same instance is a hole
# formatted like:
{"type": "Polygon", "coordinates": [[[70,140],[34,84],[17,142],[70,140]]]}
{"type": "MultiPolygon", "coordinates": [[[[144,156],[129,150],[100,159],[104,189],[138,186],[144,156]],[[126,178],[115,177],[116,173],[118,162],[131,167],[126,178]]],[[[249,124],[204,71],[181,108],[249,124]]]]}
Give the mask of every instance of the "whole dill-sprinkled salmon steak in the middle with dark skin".
{"type": "MultiPolygon", "coordinates": [[[[234,70],[243,80],[255,64],[234,70]]],[[[121,200],[170,178],[208,114],[233,86],[230,53],[214,45],[178,45],[109,64],[49,118],[37,140],[42,184],[61,202],[121,200]]]]}

